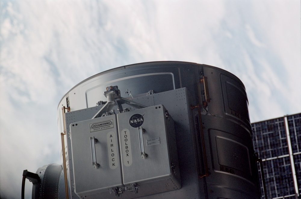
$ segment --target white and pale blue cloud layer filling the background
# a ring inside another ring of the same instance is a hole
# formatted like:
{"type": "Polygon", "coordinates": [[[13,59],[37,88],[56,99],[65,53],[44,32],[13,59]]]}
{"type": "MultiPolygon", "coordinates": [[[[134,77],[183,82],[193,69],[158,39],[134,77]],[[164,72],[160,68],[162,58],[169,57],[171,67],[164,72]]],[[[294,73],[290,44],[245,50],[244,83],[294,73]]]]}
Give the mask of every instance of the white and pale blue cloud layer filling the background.
{"type": "Polygon", "coordinates": [[[300,13],[297,0],[0,2],[1,197],[60,163],[57,103],[107,69],[204,63],[241,79],[252,122],[301,112],[300,13]]]}

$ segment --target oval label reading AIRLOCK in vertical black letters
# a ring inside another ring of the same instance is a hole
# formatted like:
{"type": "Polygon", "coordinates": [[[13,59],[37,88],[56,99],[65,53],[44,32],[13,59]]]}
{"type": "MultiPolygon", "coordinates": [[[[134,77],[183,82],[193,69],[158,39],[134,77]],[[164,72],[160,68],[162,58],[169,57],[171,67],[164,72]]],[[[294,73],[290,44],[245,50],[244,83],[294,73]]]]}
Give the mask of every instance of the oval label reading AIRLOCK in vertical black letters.
{"type": "Polygon", "coordinates": [[[111,169],[116,169],[118,166],[118,156],[116,148],[115,133],[113,131],[107,134],[109,165],[111,169]]]}

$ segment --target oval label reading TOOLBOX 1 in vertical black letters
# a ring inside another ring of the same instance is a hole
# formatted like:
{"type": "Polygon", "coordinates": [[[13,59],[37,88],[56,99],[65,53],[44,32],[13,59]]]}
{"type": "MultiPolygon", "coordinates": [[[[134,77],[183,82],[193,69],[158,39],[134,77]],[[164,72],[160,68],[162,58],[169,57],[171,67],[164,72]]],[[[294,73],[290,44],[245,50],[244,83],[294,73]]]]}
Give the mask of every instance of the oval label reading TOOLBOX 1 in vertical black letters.
{"type": "Polygon", "coordinates": [[[122,144],[121,147],[122,147],[123,164],[126,167],[129,167],[133,163],[129,129],[123,129],[120,132],[120,136],[121,136],[121,144],[122,144]]]}

